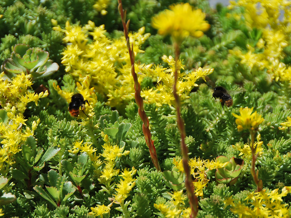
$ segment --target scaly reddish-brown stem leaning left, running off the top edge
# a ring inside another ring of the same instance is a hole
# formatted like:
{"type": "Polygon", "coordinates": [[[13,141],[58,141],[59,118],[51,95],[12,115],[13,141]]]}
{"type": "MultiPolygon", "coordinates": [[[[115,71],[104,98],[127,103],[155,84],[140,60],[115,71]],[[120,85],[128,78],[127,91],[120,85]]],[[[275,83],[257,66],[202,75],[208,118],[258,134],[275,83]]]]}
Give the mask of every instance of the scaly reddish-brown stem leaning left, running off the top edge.
{"type": "Polygon", "coordinates": [[[130,46],[130,43],[129,43],[128,26],[125,23],[125,19],[126,19],[125,13],[124,13],[123,8],[122,8],[121,0],[118,0],[118,3],[119,3],[118,10],[119,10],[119,13],[121,16],[123,29],[124,29],[124,36],[125,36],[125,40],[126,40],[126,44],[127,44],[127,48],[128,48],[128,52],[129,52],[129,57],[130,57],[131,74],[132,74],[132,77],[134,79],[134,97],[135,97],[136,104],[139,108],[139,117],[143,121],[143,135],[145,136],[145,142],[149,148],[150,157],[152,159],[152,162],[153,162],[154,166],[156,167],[156,169],[158,171],[161,171],[161,167],[160,167],[159,162],[158,162],[156,148],[155,148],[153,141],[152,141],[152,134],[151,134],[150,128],[149,128],[149,120],[148,120],[148,117],[145,114],[145,111],[143,109],[143,98],[141,97],[141,85],[139,84],[137,75],[136,75],[135,70],[134,70],[134,53],[132,52],[133,45],[130,46]]]}

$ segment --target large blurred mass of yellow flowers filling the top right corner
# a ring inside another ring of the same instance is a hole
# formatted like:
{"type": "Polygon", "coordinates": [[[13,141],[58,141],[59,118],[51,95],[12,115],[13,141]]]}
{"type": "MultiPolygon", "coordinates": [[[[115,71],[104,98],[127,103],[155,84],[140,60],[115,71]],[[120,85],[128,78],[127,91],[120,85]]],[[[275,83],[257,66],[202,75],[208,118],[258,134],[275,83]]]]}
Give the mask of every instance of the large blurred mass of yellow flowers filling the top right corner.
{"type": "Polygon", "coordinates": [[[256,69],[267,69],[276,81],[291,81],[291,68],[282,62],[283,49],[290,45],[291,2],[285,0],[239,0],[230,1],[229,8],[244,7],[244,17],[250,30],[257,28],[262,36],[255,47],[247,45],[248,52],[231,51],[241,58],[241,63],[256,69]],[[280,17],[280,19],[279,19],[280,17]],[[282,18],[281,18],[282,17],[282,18]],[[262,51],[261,51],[262,50],[262,51]],[[259,52],[258,52],[259,51],[259,52]]]}

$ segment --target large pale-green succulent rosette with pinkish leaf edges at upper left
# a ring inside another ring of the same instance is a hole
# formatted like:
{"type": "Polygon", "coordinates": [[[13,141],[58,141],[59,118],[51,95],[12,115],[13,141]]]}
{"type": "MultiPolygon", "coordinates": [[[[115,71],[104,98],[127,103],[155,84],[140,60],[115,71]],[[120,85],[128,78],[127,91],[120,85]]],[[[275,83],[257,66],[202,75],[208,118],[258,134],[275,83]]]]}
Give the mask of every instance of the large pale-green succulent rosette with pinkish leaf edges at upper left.
{"type": "Polygon", "coordinates": [[[8,81],[22,72],[31,74],[32,79],[43,78],[52,75],[58,68],[57,63],[49,60],[47,51],[29,48],[26,44],[15,45],[11,58],[7,58],[1,65],[1,70],[5,73],[3,79],[8,81]]]}

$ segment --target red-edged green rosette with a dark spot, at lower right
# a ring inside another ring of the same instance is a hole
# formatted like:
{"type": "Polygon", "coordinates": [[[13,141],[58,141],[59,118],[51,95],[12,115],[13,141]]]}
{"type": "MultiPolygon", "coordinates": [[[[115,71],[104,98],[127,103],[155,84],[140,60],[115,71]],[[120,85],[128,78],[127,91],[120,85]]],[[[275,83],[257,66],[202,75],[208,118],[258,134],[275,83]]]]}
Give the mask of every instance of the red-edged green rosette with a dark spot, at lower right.
{"type": "Polygon", "coordinates": [[[242,171],[242,166],[244,165],[244,160],[240,158],[230,158],[228,160],[225,156],[219,156],[216,158],[216,162],[226,163],[228,165],[223,168],[217,168],[215,172],[216,181],[219,183],[233,185],[236,183],[240,172],[242,171]]]}

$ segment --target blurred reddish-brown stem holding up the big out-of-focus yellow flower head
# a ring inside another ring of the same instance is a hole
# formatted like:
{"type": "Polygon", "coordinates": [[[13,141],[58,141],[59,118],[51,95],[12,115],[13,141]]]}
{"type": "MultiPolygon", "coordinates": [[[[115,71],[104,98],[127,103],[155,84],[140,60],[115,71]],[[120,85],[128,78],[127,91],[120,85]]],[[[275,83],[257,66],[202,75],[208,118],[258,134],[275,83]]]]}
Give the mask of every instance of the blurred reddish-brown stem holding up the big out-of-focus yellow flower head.
{"type": "Polygon", "coordinates": [[[175,98],[175,104],[176,104],[176,110],[177,110],[177,126],[181,134],[180,143],[181,143],[181,151],[182,151],[182,156],[183,156],[182,162],[183,162],[183,167],[186,174],[185,185],[186,185],[186,190],[188,193],[189,203],[191,207],[190,218],[194,218],[197,216],[197,213],[198,213],[198,199],[194,193],[194,187],[193,187],[191,174],[190,174],[190,167],[188,164],[188,148],[185,143],[186,130],[185,130],[185,125],[184,125],[184,120],[181,117],[180,98],[177,93],[177,81],[178,81],[177,61],[180,56],[180,45],[178,43],[174,43],[174,47],[175,47],[175,72],[174,72],[175,81],[173,85],[173,95],[175,98]]]}

